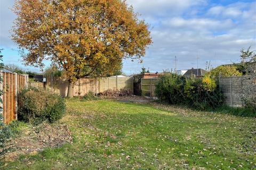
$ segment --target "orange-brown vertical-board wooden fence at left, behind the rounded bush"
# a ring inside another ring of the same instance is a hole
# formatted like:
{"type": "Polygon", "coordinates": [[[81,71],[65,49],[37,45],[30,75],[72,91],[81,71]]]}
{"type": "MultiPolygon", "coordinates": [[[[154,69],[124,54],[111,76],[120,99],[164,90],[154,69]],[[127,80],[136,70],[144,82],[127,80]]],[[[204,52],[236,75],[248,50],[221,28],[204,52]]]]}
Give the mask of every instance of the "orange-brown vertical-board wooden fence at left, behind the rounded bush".
{"type": "Polygon", "coordinates": [[[0,89],[4,94],[2,97],[3,103],[3,118],[4,123],[9,124],[17,119],[17,105],[19,91],[27,86],[28,75],[19,75],[17,73],[1,72],[3,82],[0,84],[0,89]]]}

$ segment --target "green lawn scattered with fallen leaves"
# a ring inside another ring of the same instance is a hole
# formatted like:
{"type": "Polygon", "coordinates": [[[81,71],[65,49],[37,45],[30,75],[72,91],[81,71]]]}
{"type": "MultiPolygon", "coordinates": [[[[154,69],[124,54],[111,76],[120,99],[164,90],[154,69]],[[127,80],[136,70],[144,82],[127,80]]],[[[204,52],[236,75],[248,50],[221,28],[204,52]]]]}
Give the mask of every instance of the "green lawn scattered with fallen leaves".
{"type": "Polygon", "coordinates": [[[67,100],[74,142],[3,169],[255,169],[253,118],[167,111],[114,100],[67,100]]]}

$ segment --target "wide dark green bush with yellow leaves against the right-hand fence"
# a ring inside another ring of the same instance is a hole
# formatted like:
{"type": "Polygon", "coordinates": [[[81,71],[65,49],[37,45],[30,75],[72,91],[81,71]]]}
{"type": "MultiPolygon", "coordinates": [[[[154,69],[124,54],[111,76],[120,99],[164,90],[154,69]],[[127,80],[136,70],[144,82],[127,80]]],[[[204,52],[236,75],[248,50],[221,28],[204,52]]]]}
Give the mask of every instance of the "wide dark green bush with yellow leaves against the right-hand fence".
{"type": "Polygon", "coordinates": [[[170,104],[184,104],[197,109],[215,108],[224,102],[216,81],[210,76],[186,79],[166,73],[159,78],[155,93],[170,104]]]}

